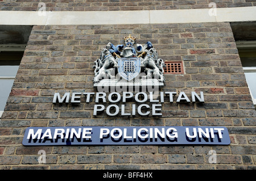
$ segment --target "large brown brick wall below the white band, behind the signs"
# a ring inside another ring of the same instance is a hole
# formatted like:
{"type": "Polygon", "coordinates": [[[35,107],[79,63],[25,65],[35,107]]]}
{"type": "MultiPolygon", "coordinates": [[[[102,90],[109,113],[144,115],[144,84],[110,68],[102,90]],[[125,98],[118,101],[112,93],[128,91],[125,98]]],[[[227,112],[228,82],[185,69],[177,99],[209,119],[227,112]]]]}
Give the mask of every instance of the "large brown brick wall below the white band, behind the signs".
{"type": "MultiPolygon", "coordinates": [[[[104,3],[104,2],[102,2],[104,3]]],[[[163,2],[162,2],[163,3],[163,2]]],[[[0,121],[1,169],[255,169],[256,112],[229,23],[34,26],[0,121]],[[95,92],[93,61],[106,44],[151,41],[182,60],[162,91],[204,91],[205,103],[163,103],[163,116],[93,117],[93,103],[52,104],[54,92],[95,92]],[[23,146],[27,127],[225,126],[228,146],[23,146]],[[38,151],[46,151],[39,164],[38,151]],[[216,150],[217,163],[208,152],[216,150]]]]}

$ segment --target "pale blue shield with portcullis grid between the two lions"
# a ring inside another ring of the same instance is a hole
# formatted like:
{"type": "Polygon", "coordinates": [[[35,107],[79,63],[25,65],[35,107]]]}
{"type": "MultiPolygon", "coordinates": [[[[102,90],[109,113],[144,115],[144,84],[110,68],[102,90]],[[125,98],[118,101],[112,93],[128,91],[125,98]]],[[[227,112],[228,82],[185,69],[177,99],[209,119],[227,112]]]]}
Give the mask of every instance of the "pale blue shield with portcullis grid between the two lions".
{"type": "Polygon", "coordinates": [[[122,78],[131,81],[141,73],[141,58],[118,58],[118,73],[122,78]]]}

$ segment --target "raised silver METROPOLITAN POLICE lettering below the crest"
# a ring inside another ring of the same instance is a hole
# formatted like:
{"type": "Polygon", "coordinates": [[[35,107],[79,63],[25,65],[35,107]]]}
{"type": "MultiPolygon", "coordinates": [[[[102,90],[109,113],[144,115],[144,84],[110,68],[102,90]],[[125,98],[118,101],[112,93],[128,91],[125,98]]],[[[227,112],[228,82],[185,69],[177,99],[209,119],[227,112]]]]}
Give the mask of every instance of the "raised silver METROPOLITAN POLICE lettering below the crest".
{"type": "MultiPolygon", "coordinates": [[[[118,114],[121,116],[136,116],[136,112],[138,112],[138,115],[140,116],[162,116],[162,103],[164,103],[164,98],[168,97],[168,102],[172,103],[174,102],[174,96],[177,94],[177,92],[158,92],[158,94],[159,95],[154,95],[152,92],[149,92],[149,95],[147,95],[145,92],[137,92],[134,95],[133,92],[123,92],[123,94],[121,95],[119,94],[119,92],[111,92],[109,95],[107,95],[105,92],[96,92],[96,104],[94,104],[93,116],[97,116],[99,113],[102,113],[102,111],[106,111],[108,116],[117,116],[118,114]],[[119,102],[126,103],[129,100],[137,103],[131,104],[130,112],[127,112],[125,104],[121,104],[121,108],[119,108],[119,106],[116,104],[119,102]],[[107,102],[111,104],[106,107],[106,105],[104,104],[107,102]],[[148,102],[151,103],[151,105],[148,102]],[[142,110],[146,112],[143,112],[142,110]]],[[[73,92],[72,96],[69,92],[65,92],[62,98],[59,92],[55,92],[52,102],[54,104],[61,104],[64,102],[79,104],[81,103],[81,95],[85,96],[86,103],[90,103],[94,92],[73,92]]],[[[195,91],[192,91],[191,99],[192,102],[204,102],[204,94],[202,91],[200,92],[200,95],[196,94],[195,91]]],[[[177,96],[176,102],[189,103],[191,102],[191,99],[188,98],[185,92],[181,91],[177,96]]]]}

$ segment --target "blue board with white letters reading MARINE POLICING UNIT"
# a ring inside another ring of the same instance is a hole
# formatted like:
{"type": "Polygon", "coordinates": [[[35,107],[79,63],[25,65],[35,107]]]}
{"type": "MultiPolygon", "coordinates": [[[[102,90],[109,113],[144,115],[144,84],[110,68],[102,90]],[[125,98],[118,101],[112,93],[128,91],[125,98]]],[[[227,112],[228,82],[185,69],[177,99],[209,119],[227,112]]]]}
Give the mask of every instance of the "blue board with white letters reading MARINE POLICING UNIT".
{"type": "Polygon", "coordinates": [[[226,127],[29,127],[23,145],[229,145],[226,127]]]}

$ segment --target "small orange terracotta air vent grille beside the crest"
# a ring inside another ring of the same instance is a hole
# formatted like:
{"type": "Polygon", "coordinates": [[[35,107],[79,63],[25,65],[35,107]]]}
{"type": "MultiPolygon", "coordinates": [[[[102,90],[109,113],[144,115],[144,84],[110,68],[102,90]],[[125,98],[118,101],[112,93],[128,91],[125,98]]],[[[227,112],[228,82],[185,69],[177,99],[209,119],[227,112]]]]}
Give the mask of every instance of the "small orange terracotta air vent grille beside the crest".
{"type": "Polygon", "coordinates": [[[164,61],[166,68],[164,68],[164,74],[183,74],[183,62],[182,61],[164,61]]]}

